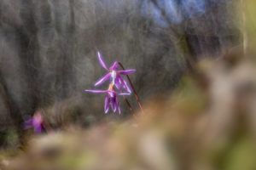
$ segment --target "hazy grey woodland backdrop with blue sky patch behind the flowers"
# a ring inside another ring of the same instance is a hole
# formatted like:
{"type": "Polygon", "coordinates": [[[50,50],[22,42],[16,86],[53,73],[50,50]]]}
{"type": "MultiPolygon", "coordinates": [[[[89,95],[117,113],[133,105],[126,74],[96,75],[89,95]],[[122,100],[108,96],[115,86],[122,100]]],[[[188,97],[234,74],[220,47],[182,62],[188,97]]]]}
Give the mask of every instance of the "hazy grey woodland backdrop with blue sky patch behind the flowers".
{"type": "Polygon", "coordinates": [[[1,131],[39,107],[53,127],[130,116],[123,99],[122,116],[105,116],[104,96],[84,92],[106,73],[96,51],[108,66],[137,70],[131,80],[144,103],[170,92],[198,59],[236,45],[228,8],[223,0],[0,1],[1,131]]]}

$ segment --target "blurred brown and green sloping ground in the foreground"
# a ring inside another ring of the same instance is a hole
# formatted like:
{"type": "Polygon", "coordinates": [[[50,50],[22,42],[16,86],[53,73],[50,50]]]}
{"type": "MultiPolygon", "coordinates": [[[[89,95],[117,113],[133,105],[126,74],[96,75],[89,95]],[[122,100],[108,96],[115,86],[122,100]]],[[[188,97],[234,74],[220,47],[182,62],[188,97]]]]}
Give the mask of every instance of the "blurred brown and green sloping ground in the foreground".
{"type": "Polygon", "coordinates": [[[256,169],[256,67],[241,56],[202,60],[136,119],[27,137],[1,169],[256,169]]]}

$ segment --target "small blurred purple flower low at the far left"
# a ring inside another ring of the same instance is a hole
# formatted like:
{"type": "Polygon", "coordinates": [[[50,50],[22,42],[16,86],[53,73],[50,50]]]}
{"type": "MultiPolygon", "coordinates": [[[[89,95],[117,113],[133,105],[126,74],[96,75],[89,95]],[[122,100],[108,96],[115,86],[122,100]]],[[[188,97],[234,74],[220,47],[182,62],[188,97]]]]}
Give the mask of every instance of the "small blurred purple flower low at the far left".
{"type": "Polygon", "coordinates": [[[34,128],[35,133],[42,133],[44,131],[43,116],[40,111],[37,111],[34,116],[30,117],[23,123],[23,128],[34,128]]]}

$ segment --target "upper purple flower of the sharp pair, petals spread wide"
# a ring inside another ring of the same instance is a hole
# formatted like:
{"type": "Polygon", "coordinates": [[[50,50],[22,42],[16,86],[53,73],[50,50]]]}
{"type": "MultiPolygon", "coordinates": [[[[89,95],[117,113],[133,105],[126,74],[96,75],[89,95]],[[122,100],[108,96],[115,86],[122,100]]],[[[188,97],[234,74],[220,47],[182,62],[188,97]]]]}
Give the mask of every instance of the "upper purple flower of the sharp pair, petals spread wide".
{"type": "Polygon", "coordinates": [[[129,75],[135,72],[136,70],[132,69],[132,70],[119,71],[118,70],[119,62],[117,61],[115,61],[113,65],[108,69],[108,67],[105,65],[104,61],[102,60],[102,55],[100,54],[100,52],[98,52],[97,54],[98,54],[98,59],[100,61],[100,64],[106,71],[108,71],[108,74],[102,77],[100,80],[98,80],[95,83],[95,86],[98,86],[103,82],[106,82],[108,79],[110,79],[113,85],[119,89],[119,91],[122,91],[120,87],[123,87],[129,94],[131,94],[131,89],[127,85],[127,82],[120,75],[129,75]]]}

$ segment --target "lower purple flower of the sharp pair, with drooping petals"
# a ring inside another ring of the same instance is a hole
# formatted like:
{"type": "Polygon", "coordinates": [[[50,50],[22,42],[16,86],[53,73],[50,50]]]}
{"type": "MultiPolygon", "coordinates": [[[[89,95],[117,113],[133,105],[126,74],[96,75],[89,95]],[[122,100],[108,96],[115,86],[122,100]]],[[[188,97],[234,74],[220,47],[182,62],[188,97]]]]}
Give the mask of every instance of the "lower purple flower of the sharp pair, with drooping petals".
{"type": "Polygon", "coordinates": [[[113,84],[109,84],[108,90],[85,90],[86,92],[91,92],[94,94],[104,94],[106,93],[105,97],[105,105],[104,105],[104,111],[105,114],[108,113],[109,105],[112,108],[112,111],[115,112],[117,109],[119,110],[119,115],[121,114],[119,101],[117,99],[116,94],[118,95],[130,95],[130,94],[119,94],[113,90],[113,84]]]}

